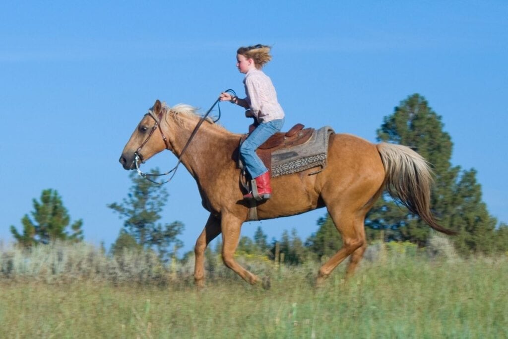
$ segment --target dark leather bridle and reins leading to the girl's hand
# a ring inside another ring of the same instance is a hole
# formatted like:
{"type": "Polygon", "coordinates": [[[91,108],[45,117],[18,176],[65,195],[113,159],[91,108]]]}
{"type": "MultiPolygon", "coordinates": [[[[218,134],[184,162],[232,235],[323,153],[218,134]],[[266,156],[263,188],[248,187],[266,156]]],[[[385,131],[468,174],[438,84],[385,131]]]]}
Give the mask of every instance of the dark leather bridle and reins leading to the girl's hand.
{"type": "MultiPolygon", "coordinates": [[[[225,92],[229,92],[231,94],[233,94],[233,96],[236,96],[236,93],[233,89],[228,89],[228,90],[225,90],[225,92]]],[[[161,119],[162,119],[162,115],[163,113],[161,112],[158,117],[155,116],[155,114],[152,112],[152,111],[148,111],[148,115],[150,115],[154,120],[155,120],[155,125],[153,125],[150,133],[148,134],[148,137],[146,137],[145,141],[143,141],[143,143],[141,144],[141,146],[139,146],[139,148],[136,150],[136,152],[134,152],[134,162],[136,164],[136,170],[138,171],[138,174],[140,176],[142,176],[143,178],[147,179],[148,181],[151,181],[153,183],[156,183],[156,184],[159,184],[159,185],[162,185],[162,184],[165,184],[167,182],[170,182],[171,179],[173,179],[173,177],[175,176],[176,174],[176,170],[178,169],[178,166],[180,166],[180,164],[182,163],[182,156],[183,154],[185,153],[185,150],[187,149],[188,145],[190,144],[190,142],[192,141],[192,139],[194,138],[194,136],[196,135],[196,133],[198,133],[198,129],[200,128],[201,124],[203,124],[203,121],[206,120],[206,118],[208,117],[208,115],[210,114],[210,112],[212,111],[212,109],[215,107],[215,105],[217,105],[218,107],[218,111],[219,111],[219,116],[217,117],[216,120],[213,121],[213,123],[215,124],[215,122],[217,122],[219,119],[220,119],[220,100],[217,99],[215,100],[215,102],[213,103],[212,107],[210,107],[210,109],[205,113],[205,115],[203,115],[201,117],[201,119],[198,121],[198,124],[196,125],[196,127],[194,128],[194,130],[192,131],[192,133],[190,134],[190,137],[189,139],[187,140],[187,143],[185,144],[185,146],[183,146],[183,149],[182,149],[182,152],[180,153],[180,156],[178,157],[178,162],[176,163],[175,167],[173,167],[172,169],[170,169],[169,171],[165,172],[165,173],[162,173],[162,174],[150,174],[150,173],[144,173],[142,172],[140,169],[139,169],[139,162],[141,161],[141,163],[143,163],[140,155],[139,155],[139,152],[141,151],[141,148],[143,148],[143,146],[148,142],[148,140],[150,140],[153,132],[155,132],[155,130],[157,129],[158,127],[158,130],[161,132],[161,135],[162,135],[162,139],[164,140],[164,144],[166,145],[166,149],[168,150],[171,150],[170,146],[169,146],[169,143],[168,143],[168,139],[166,138],[166,136],[164,135],[163,131],[162,131],[162,128],[161,128],[161,119]],[[170,173],[173,173],[169,179],[165,180],[165,181],[161,181],[161,182],[157,182],[157,181],[154,181],[152,179],[150,179],[150,176],[164,176],[164,175],[168,175],[170,173]]],[[[145,114],[145,115],[146,115],[145,114]]]]}

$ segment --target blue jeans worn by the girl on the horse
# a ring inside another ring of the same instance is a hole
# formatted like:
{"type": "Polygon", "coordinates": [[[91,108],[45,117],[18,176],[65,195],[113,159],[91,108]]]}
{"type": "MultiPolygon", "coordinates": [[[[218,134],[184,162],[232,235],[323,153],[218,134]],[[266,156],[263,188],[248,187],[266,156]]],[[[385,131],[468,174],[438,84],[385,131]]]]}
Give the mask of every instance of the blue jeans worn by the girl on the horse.
{"type": "Polygon", "coordinates": [[[252,178],[256,178],[268,171],[265,164],[256,154],[256,149],[268,140],[269,137],[280,131],[282,125],[284,125],[284,118],[263,122],[241,144],[240,157],[252,178]]]}

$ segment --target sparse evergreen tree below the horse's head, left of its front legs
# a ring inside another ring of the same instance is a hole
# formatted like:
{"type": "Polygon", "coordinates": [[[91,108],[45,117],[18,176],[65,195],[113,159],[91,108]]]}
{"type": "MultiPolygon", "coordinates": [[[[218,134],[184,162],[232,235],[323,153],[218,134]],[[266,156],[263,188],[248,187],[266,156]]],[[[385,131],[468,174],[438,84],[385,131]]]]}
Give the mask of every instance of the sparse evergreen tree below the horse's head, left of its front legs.
{"type": "MultiPolygon", "coordinates": [[[[151,170],[151,174],[158,174],[151,170]]],[[[168,200],[168,193],[164,186],[152,183],[132,171],[130,177],[133,186],[129,190],[128,198],[121,204],[112,203],[107,206],[124,219],[123,227],[126,234],[136,240],[142,248],[155,248],[161,259],[167,259],[170,244],[181,247],[177,236],[183,230],[183,224],[173,222],[161,224],[161,211],[168,200]]],[[[120,234],[122,235],[122,234],[120,234]]]]}

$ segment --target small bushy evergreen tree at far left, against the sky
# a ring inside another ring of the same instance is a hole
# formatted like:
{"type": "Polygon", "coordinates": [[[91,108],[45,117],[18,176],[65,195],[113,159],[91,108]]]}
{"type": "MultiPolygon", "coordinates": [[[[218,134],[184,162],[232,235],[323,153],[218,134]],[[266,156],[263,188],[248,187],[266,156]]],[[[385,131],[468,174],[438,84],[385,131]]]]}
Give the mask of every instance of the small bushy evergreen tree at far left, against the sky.
{"type": "Polygon", "coordinates": [[[63,206],[61,197],[56,190],[43,190],[41,201],[33,199],[33,218],[25,214],[21,219],[23,233],[20,234],[14,226],[11,233],[19,244],[29,247],[34,244],[47,244],[55,240],[81,241],[83,240],[83,221],[77,220],[67,230],[70,224],[70,216],[67,208],[63,206]]]}

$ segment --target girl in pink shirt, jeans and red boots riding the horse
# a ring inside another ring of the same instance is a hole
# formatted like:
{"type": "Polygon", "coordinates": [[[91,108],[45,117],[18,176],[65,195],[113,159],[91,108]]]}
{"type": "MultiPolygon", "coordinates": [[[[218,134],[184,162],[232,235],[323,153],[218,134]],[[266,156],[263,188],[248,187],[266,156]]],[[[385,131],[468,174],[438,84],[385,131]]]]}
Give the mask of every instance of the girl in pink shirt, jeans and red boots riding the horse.
{"type": "MultiPolygon", "coordinates": [[[[240,157],[252,178],[256,179],[258,194],[263,199],[270,199],[270,173],[256,154],[256,149],[270,136],[280,131],[284,124],[284,111],[277,101],[277,93],[270,78],[261,71],[272,59],[270,46],[256,45],[240,47],[236,54],[236,67],[245,74],[245,95],[243,99],[221,93],[220,101],[230,101],[246,109],[245,116],[253,117],[256,129],[249,134],[240,146],[240,157]]],[[[252,199],[252,193],[243,196],[252,199]]]]}

